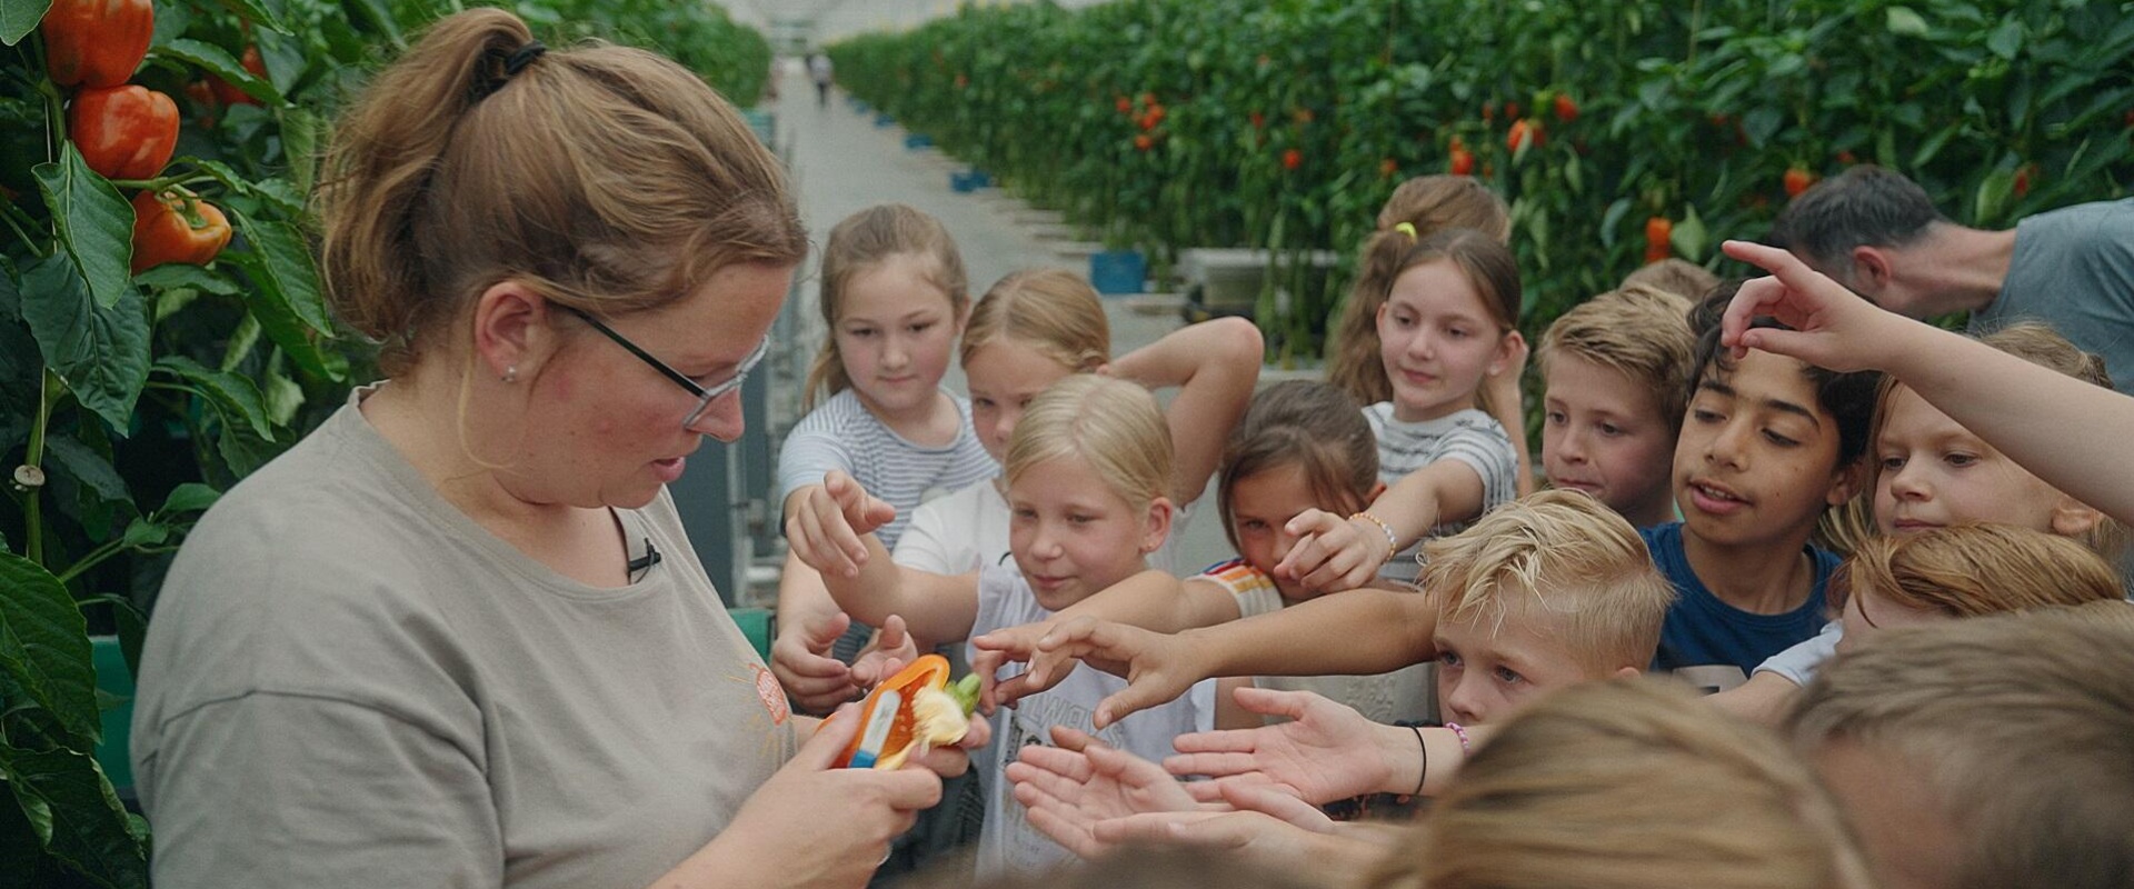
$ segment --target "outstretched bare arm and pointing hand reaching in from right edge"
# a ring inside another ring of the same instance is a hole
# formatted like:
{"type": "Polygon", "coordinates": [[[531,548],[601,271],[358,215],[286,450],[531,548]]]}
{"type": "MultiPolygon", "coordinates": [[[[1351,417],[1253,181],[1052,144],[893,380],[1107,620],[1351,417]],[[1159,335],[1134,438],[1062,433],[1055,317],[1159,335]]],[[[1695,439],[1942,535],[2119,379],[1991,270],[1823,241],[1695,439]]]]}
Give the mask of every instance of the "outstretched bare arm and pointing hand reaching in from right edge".
{"type": "Polygon", "coordinates": [[[2104,471],[2134,441],[2134,399],[1876,309],[1784,249],[1726,241],[1726,256],[1775,275],[1743,284],[1726,307],[1726,345],[1833,371],[1889,371],[2044,484],[2134,522],[2134,482],[2104,471]],[[1756,316],[1793,330],[1750,328],[1756,316]]]}

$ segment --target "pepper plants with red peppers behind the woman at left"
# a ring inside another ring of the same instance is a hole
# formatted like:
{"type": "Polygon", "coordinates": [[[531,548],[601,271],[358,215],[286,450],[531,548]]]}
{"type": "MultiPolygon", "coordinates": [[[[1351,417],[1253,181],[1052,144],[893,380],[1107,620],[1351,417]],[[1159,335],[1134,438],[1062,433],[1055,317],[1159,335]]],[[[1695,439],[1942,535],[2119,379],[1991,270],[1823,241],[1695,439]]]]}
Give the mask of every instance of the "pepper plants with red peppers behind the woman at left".
{"type": "MultiPolygon", "coordinates": [[[[457,6],[0,0],[0,885],[147,885],[90,633],[132,665],[194,518],[371,377],[305,196],[335,104],[457,6]]],[[[519,11],[553,45],[687,36],[760,92],[764,38],[691,9],[519,11]]]]}

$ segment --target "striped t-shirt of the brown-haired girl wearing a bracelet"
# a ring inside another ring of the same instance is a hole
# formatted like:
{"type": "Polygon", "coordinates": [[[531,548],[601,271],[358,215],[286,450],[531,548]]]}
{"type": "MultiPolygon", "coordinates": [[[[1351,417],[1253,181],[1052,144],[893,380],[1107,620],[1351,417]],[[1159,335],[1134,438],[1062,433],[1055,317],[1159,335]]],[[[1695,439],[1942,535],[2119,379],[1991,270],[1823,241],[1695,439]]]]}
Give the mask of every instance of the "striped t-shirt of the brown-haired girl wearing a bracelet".
{"type": "MultiPolygon", "coordinates": [[[[1379,437],[1379,480],[1387,486],[1432,463],[1460,460],[1481,475],[1481,512],[1519,497],[1519,452],[1511,448],[1504,424],[1490,414],[1468,407],[1436,420],[1400,422],[1394,420],[1394,403],[1381,401],[1364,407],[1364,420],[1370,420],[1370,431],[1379,437]]],[[[1468,524],[1475,520],[1438,524],[1423,539],[1455,535],[1468,524]]],[[[1415,576],[1421,573],[1421,563],[1417,563],[1421,548],[1423,542],[1417,539],[1400,550],[1379,569],[1379,576],[1413,584],[1415,576]]]]}

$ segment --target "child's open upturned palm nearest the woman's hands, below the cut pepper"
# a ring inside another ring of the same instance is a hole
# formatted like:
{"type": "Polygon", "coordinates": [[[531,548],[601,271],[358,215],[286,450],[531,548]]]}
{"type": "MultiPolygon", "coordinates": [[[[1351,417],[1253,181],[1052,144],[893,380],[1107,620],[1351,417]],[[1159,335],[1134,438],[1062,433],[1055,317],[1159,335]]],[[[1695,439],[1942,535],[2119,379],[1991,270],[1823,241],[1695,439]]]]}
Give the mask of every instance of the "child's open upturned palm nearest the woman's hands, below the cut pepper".
{"type": "Polygon", "coordinates": [[[1058,746],[1024,746],[1007,763],[1007,780],[1016,785],[1016,802],[1029,810],[1031,827],[1076,855],[1110,851],[1095,836],[1099,821],[1199,808],[1163,765],[1067,727],[1052,727],[1052,742],[1058,746]]]}

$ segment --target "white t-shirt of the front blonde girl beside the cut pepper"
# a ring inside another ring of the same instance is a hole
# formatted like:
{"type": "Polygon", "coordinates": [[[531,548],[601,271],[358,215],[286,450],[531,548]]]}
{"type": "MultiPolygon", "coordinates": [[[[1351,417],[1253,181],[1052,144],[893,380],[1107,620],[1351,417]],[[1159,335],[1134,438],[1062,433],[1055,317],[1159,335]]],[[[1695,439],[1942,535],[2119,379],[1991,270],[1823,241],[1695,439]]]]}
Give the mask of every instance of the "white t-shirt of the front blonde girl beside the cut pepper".
{"type": "MultiPolygon", "coordinates": [[[[1037,603],[1031,586],[1020,573],[986,567],[977,576],[977,620],[971,635],[984,635],[1001,627],[1020,627],[1048,620],[1052,612],[1037,603]]],[[[1003,667],[1020,669],[1020,667],[1003,667]]],[[[1012,674],[1003,674],[1012,676],[1012,674]]],[[[1073,861],[1052,838],[1031,827],[1029,814],[1016,802],[1007,782],[1007,763],[1029,744],[1052,744],[1052,727],[1065,725],[1095,733],[1110,746],[1144,759],[1161,761],[1176,753],[1172,740],[1193,731],[1214,729],[1214,680],[1195,682],[1172,704],[1135,712],[1103,731],[1095,731],[1090,714],[1097,704],[1127,686],[1127,680],[1090,667],[1076,667],[1058,686],[1024,697],[1014,710],[999,710],[999,727],[992,746],[984,755],[990,759],[990,791],[986,806],[986,827],[977,840],[977,874],[994,878],[1003,874],[1037,874],[1052,866],[1073,861]]],[[[980,761],[980,757],[973,757],[980,761]]]]}

